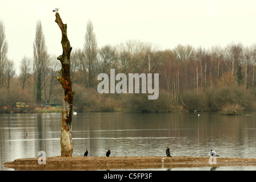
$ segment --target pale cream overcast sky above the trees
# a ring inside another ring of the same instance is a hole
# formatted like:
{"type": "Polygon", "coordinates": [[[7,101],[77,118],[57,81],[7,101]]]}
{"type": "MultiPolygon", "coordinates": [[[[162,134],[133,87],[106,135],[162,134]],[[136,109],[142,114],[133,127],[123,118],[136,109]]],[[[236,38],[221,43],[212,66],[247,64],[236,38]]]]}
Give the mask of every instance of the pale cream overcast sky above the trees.
{"type": "Polygon", "coordinates": [[[91,20],[98,47],[141,40],[172,49],[221,46],[231,42],[256,43],[255,0],[0,0],[0,19],[9,44],[7,56],[16,73],[23,56],[33,56],[36,22],[41,20],[46,46],[59,56],[61,32],[55,23],[59,7],[73,49],[83,48],[86,24],[91,20]]]}

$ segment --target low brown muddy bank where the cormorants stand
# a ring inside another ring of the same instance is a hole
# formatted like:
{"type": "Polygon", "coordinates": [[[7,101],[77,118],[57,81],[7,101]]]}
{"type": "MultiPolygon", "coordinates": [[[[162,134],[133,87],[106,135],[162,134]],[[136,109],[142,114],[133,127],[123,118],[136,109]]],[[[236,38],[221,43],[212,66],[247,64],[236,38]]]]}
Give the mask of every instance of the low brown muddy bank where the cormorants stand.
{"type": "MultiPolygon", "coordinates": [[[[212,160],[213,162],[213,160],[212,160]]],[[[174,167],[219,167],[256,166],[256,158],[217,158],[216,164],[209,164],[208,157],[141,156],[141,157],[81,157],[65,158],[53,156],[46,158],[46,164],[38,164],[38,158],[16,159],[3,166],[16,170],[105,170],[105,169],[145,169],[174,167]]]]}

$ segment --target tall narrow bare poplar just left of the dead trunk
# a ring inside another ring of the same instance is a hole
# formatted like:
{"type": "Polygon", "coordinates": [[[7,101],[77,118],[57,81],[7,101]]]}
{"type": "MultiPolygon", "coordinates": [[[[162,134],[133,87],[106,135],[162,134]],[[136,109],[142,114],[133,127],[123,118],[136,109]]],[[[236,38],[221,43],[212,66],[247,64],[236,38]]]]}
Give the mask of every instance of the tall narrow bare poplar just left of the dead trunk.
{"type": "Polygon", "coordinates": [[[34,41],[34,76],[36,84],[36,102],[42,102],[42,89],[44,81],[44,73],[46,69],[46,62],[48,60],[48,53],[45,44],[43,28],[40,20],[36,24],[36,35],[34,41]]]}

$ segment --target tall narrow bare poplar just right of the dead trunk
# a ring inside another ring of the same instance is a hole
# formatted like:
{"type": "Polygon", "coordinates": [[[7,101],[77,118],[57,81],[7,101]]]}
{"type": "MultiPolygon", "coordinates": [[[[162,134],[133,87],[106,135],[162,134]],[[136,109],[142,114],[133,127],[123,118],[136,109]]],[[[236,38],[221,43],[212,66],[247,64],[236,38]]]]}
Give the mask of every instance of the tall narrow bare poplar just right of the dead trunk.
{"type": "Polygon", "coordinates": [[[97,65],[97,42],[96,36],[93,32],[93,24],[89,20],[86,27],[85,43],[85,65],[88,70],[88,86],[92,87],[94,82],[94,77],[96,75],[96,65],[97,65]]]}

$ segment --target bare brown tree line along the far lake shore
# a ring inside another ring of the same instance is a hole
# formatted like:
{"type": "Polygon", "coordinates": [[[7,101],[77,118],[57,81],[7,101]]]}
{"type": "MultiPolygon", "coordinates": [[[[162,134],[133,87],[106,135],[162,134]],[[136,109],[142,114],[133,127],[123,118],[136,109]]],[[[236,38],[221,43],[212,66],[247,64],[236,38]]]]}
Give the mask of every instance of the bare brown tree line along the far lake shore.
{"type": "MultiPolygon", "coordinates": [[[[60,63],[49,55],[43,27],[36,24],[34,56],[24,56],[20,75],[14,61],[7,58],[5,27],[0,22],[0,106],[15,102],[61,104],[62,92],[55,76],[60,63]]],[[[71,43],[72,44],[72,43],[71,43]]],[[[153,43],[126,40],[117,45],[97,46],[93,23],[89,20],[84,47],[71,52],[72,87],[77,111],[214,110],[228,107],[255,110],[256,44],[229,43],[225,47],[192,47],[178,44],[162,50],[153,43]],[[147,94],[100,94],[100,73],[159,73],[159,98],[147,94]]]]}

